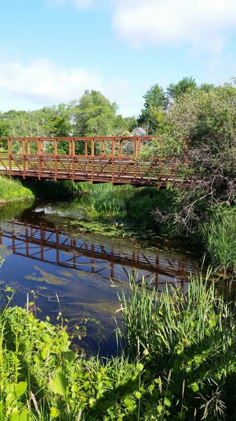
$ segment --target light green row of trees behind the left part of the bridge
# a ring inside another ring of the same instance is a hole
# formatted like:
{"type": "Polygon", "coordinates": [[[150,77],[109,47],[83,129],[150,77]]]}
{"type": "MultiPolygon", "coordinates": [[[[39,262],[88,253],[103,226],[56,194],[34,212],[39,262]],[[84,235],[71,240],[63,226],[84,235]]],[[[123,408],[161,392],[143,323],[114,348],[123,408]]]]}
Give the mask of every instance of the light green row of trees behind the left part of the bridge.
{"type": "MultiPolygon", "coordinates": [[[[0,136],[12,138],[68,137],[71,136],[103,136],[129,135],[137,121],[133,117],[123,118],[116,115],[117,105],[111,103],[99,91],[85,91],[79,100],[68,104],[61,103],[51,107],[43,107],[34,111],[0,112],[0,136]]],[[[82,149],[76,153],[82,153],[82,149]]],[[[13,144],[13,152],[20,152],[20,143],[13,144]]],[[[32,143],[32,152],[34,143],[32,143]]],[[[46,153],[50,153],[50,145],[46,153]]],[[[69,152],[68,142],[58,142],[57,152],[69,152]]]]}

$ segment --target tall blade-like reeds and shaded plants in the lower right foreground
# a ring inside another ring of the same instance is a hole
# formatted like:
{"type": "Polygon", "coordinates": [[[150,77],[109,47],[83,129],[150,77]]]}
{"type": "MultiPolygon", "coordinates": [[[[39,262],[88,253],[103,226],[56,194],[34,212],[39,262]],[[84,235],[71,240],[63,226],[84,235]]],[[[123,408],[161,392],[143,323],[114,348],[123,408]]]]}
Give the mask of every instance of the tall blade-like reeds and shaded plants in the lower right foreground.
{"type": "Polygon", "coordinates": [[[207,281],[211,271],[161,295],[132,281],[120,295],[120,337],[145,367],[144,420],[235,419],[235,312],[207,281]]]}

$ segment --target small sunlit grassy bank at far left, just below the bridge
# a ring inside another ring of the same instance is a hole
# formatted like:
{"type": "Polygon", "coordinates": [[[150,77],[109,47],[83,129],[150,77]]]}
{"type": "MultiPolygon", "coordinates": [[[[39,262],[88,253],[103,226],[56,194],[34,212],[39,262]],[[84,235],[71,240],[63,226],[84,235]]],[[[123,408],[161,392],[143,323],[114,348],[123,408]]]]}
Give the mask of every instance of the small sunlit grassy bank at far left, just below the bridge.
{"type": "Polygon", "coordinates": [[[0,175],[0,203],[34,199],[34,194],[18,180],[0,175]]]}

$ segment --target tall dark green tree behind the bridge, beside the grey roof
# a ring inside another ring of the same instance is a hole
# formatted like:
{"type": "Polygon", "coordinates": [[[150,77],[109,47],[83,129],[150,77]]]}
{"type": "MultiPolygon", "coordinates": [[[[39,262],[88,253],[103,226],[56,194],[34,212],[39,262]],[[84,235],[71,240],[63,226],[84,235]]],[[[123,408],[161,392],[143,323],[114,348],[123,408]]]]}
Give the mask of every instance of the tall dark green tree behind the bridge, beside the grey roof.
{"type": "Polygon", "coordinates": [[[157,114],[162,114],[167,108],[167,96],[158,84],[151,86],[144,95],[144,109],[137,119],[139,126],[144,126],[148,135],[156,134],[158,131],[157,114]]]}

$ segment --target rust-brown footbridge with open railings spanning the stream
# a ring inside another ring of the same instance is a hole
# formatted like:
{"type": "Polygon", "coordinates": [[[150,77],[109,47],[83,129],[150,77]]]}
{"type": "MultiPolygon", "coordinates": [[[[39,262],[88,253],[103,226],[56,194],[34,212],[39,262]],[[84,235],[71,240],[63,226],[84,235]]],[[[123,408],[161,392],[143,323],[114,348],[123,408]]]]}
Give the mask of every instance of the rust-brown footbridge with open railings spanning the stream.
{"type": "MultiPolygon", "coordinates": [[[[140,162],[141,149],[153,137],[0,138],[0,173],[22,178],[111,182],[113,185],[156,186],[168,182],[185,187],[179,176],[187,158],[155,157],[140,162]]],[[[186,154],[187,156],[187,154],[186,154]]]]}

